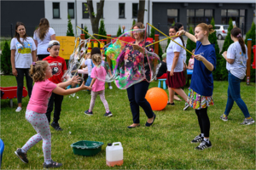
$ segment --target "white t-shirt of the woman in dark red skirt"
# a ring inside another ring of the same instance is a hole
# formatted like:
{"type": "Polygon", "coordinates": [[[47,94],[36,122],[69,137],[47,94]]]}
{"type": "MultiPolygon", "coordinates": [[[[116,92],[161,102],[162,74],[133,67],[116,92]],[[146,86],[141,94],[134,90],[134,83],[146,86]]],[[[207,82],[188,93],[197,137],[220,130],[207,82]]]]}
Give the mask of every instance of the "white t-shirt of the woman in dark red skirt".
{"type": "MultiPolygon", "coordinates": [[[[183,45],[182,40],[177,37],[174,39],[176,42],[178,42],[180,45],[183,45]]],[[[172,70],[172,62],[174,58],[174,52],[179,52],[177,65],[174,68],[174,72],[181,72],[183,71],[183,48],[181,48],[179,45],[177,45],[175,42],[171,41],[169,43],[169,46],[166,50],[166,64],[167,64],[167,71],[172,70]]]]}

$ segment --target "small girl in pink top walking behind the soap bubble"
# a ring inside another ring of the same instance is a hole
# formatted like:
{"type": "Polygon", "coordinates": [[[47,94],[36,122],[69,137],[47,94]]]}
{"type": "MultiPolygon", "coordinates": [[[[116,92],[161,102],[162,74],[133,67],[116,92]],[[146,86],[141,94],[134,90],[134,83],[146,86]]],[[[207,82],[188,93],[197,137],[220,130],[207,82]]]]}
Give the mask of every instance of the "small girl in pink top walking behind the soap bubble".
{"type": "Polygon", "coordinates": [[[92,116],[92,110],[95,105],[95,100],[97,95],[99,94],[106,110],[106,113],[104,116],[113,116],[108,109],[108,102],[105,99],[105,82],[103,82],[102,80],[105,79],[105,77],[107,76],[107,73],[104,67],[102,67],[101,65],[102,63],[101,54],[93,54],[91,56],[91,59],[95,67],[93,67],[90,74],[90,77],[92,78],[92,81],[90,83],[90,88],[91,88],[90,108],[88,111],[84,111],[84,114],[88,116],[92,116]],[[98,80],[97,78],[100,78],[101,81],[98,80]]]}

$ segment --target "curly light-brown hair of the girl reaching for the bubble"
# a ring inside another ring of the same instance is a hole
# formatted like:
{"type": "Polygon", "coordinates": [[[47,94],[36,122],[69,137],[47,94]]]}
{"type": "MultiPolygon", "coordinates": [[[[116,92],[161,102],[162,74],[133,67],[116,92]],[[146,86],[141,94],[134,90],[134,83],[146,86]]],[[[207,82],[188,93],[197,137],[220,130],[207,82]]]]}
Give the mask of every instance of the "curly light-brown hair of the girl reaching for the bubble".
{"type": "Polygon", "coordinates": [[[41,60],[37,61],[35,64],[30,65],[29,74],[32,77],[34,82],[44,81],[45,78],[45,70],[48,66],[48,62],[41,60]]]}

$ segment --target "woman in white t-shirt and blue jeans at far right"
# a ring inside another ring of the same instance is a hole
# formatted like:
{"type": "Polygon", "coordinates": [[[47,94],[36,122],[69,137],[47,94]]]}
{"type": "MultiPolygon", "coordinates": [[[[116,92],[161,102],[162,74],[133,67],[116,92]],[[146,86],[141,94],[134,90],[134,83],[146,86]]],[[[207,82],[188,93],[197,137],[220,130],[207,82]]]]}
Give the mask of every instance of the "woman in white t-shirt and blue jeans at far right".
{"type": "Polygon", "coordinates": [[[250,125],[254,123],[250,116],[247,105],[241,99],[240,82],[246,76],[247,70],[247,46],[242,37],[241,30],[235,27],[231,30],[231,39],[234,43],[228,48],[228,52],[224,52],[224,59],[227,60],[226,68],[229,71],[229,88],[228,101],[224,114],[220,116],[223,121],[228,121],[228,116],[233,107],[234,101],[241,109],[245,119],[241,122],[242,125],[250,125]]]}

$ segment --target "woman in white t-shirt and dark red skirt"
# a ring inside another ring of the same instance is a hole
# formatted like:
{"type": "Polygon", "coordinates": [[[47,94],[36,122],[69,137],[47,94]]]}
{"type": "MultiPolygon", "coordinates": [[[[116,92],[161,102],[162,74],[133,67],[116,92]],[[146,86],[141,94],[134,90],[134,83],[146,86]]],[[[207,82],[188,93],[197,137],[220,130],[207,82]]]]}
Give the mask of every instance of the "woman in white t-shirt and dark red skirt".
{"type": "MultiPolygon", "coordinates": [[[[176,26],[171,26],[169,28],[169,36],[173,37],[176,35],[178,29],[176,26]]],[[[184,45],[183,40],[180,37],[173,37],[173,40],[178,42],[180,45],[184,45]]],[[[183,87],[185,85],[185,77],[183,72],[183,48],[181,48],[177,43],[171,41],[166,49],[167,54],[167,78],[166,84],[169,90],[169,105],[174,105],[173,98],[174,92],[179,94],[186,102],[188,96],[184,93],[183,87]]],[[[183,110],[188,108],[185,105],[183,110]]]]}

